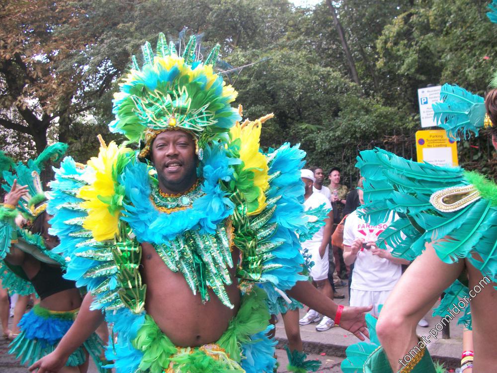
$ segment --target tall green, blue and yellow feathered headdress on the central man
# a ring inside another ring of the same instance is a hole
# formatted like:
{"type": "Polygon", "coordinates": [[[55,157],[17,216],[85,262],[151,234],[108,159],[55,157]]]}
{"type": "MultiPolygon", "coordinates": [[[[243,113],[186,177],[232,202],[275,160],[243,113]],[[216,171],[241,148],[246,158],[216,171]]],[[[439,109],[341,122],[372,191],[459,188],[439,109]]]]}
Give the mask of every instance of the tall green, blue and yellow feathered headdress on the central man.
{"type": "Polygon", "coordinates": [[[194,136],[201,158],[203,145],[227,133],[241,119],[230,105],[237,92],[213,72],[219,48],[216,45],[202,62],[195,53],[195,36],[181,57],[173,43],[167,46],[163,33],[156,55],[150,43],[145,43],[143,67],[133,56],[131,71],[114,94],[116,119],[109,124],[110,131],[124,134],[131,142],[143,142],[140,158],[144,158],[159,133],[184,130],[194,136]]]}

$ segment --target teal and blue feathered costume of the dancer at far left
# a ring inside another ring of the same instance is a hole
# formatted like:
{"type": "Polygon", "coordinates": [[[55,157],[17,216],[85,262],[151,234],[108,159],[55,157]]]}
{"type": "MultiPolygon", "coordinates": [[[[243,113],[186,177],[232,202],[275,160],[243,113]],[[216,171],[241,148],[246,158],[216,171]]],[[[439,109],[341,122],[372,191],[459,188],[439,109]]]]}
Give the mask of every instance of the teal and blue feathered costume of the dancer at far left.
{"type": "MultiPolygon", "coordinates": [[[[29,191],[19,200],[17,206],[3,204],[0,207],[0,258],[2,259],[0,278],[2,286],[12,293],[21,295],[36,293],[44,299],[55,292],[75,287],[73,281],[62,278],[62,271],[66,267],[65,259],[48,249],[40,234],[31,233],[28,229],[47,208],[47,196],[40,181],[44,163],[50,159],[58,161],[66,150],[66,144],[56,143],[45,149],[34,161],[29,160],[26,165],[22,162],[15,164],[3,153],[0,154],[3,179],[6,181],[2,187],[9,192],[14,180],[17,180],[17,185],[26,185],[29,191]],[[25,227],[15,223],[14,219],[18,216],[26,220],[25,227]],[[33,256],[40,262],[40,271],[35,277],[29,280],[21,266],[12,265],[4,260],[12,247],[33,256]]],[[[33,364],[57,347],[73,324],[76,314],[77,310],[56,312],[36,305],[19,322],[21,333],[12,341],[9,353],[20,359],[21,364],[33,364]]],[[[88,352],[99,371],[103,372],[100,362],[102,351],[103,343],[93,333],[83,346],[71,354],[66,365],[71,367],[82,365],[86,361],[86,352],[88,352]]]]}

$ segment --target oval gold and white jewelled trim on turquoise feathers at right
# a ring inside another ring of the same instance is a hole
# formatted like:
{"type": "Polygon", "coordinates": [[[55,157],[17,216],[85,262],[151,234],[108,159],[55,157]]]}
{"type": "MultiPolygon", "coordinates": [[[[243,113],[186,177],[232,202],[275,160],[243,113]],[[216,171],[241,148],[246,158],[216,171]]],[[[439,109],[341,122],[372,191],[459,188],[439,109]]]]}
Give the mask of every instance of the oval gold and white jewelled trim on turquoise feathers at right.
{"type": "Polygon", "coordinates": [[[467,185],[437,190],[431,194],[430,203],[438,211],[453,212],[468,206],[480,198],[480,192],[474,186],[467,185]]]}

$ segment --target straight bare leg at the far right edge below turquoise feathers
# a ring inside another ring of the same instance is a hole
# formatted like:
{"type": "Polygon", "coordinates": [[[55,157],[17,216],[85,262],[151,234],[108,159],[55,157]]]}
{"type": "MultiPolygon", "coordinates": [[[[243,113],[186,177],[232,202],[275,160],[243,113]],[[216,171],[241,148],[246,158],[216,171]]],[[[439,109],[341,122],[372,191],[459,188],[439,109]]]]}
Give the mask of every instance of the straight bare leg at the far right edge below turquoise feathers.
{"type": "MultiPolygon", "coordinates": [[[[497,366],[497,291],[495,282],[482,281],[480,271],[466,261],[469,274],[475,372],[495,372],[497,366]],[[480,290],[481,289],[481,290],[480,290]]],[[[465,372],[466,373],[466,372],[465,372]]]]}

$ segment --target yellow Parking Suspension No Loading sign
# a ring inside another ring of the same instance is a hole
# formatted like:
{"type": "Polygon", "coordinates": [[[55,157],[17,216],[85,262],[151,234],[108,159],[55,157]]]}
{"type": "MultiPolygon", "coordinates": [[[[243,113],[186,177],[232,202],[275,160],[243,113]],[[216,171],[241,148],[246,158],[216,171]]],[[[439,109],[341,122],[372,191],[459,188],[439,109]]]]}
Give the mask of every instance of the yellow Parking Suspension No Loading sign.
{"type": "Polygon", "coordinates": [[[435,166],[455,167],[457,143],[450,140],[443,129],[416,132],[417,162],[427,162],[435,166]]]}

